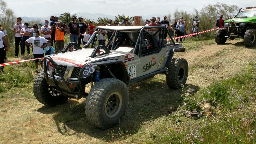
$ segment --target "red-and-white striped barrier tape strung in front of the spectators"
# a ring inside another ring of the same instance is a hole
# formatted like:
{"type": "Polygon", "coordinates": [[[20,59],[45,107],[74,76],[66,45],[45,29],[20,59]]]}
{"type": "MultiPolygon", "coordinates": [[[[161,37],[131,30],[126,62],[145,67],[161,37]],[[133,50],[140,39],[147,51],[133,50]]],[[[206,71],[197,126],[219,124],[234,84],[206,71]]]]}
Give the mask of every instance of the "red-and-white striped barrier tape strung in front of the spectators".
{"type": "MultiPolygon", "coordinates": [[[[194,33],[194,34],[179,36],[179,37],[175,37],[175,38],[172,38],[172,39],[179,39],[179,38],[189,37],[189,36],[193,36],[193,35],[197,35],[197,34],[209,32],[209,31],[213,31],[213,30],[216,30],[216,29],[220,29],[220,28],[215,28],[215,29],[210,29],[210,30],[206,30],[206,31],[194,33]]],[[[166,39],[166,41],[169,41],[169,40],[171,40],[171,39],[166,39]]],[[[12,65],[12,64],[16,64],[16,63],[21,63],[21,62],[27,62],[27,61],[32,61],[32,60],[38,60],[38,59],[43,59],[43,57],[42,57],[42,58],[35,58],[35,59],[28,59],[28,60],[21,60],[21,61],[14,61],[14,62],[3,63],[3,64],[0,64],[0,67],[1,67],[1,66],[12,65]]]]}

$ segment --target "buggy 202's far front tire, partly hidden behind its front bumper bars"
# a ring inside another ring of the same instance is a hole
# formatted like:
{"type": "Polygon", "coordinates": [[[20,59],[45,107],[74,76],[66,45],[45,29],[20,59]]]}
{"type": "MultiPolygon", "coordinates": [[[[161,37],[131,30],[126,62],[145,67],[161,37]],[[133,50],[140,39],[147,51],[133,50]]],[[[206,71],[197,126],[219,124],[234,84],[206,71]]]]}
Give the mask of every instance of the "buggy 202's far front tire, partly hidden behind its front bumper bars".
{"type": "Polygon", "coordinates": [[[43,71],[38,73],[34,81],[33,92],[36,99],[47,106],[56,106],[65,103],[68,98],[52,90],[44,78],[43,71]]]}

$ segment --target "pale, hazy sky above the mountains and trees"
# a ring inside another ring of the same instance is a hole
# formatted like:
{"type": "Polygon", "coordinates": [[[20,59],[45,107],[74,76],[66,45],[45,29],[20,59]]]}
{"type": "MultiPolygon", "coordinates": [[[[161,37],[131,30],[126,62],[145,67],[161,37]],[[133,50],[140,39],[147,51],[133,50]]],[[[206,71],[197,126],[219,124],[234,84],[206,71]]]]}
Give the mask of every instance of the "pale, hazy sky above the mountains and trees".
{"type": "Polygon", "coordinates": [[[255,0],[4,0],[16,16],[27,17],[48,17],[63,12],[88,12],[104,13],[116,16],[125,15],[151,15],[151,14],[171,14],[176,9],[193,12],[194,8],[200,10],[204,5],[226,3],[245,8],[255,4],[255,0]]]}

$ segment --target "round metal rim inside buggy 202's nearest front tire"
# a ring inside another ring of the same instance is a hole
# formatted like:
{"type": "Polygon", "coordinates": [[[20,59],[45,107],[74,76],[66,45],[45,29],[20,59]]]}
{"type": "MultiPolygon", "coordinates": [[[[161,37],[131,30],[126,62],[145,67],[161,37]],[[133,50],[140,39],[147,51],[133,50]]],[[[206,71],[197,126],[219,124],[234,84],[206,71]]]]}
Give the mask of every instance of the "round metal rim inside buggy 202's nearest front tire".
{"type": "Polygon", "coordinates": [[[122,96],[118,92],[113,92],[107,97],[105,102],[105,114],[109,118],[115,117],[122,107],[122,96]]]}

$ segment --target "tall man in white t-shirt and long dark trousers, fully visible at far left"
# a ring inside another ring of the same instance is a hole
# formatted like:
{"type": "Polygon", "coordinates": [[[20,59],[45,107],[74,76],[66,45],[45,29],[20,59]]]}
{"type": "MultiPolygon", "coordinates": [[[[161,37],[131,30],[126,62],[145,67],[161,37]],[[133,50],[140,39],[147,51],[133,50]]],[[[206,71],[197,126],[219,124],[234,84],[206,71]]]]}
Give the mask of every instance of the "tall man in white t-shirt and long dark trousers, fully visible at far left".
{"type": "MultiPolygon", "coordinates": [[[[20,35],[20,31],[23,28],[23,23],[21,23],[21,17],[17,17],[17,23],[14,25],[13,27],[13,32],[15,33],[15,57],[18,57],[19,55],[19,44],[21,41],[21,35],[20,35]]],[[[21,49],[21,45],[20,45],[20,49],[21,49]]]]}

